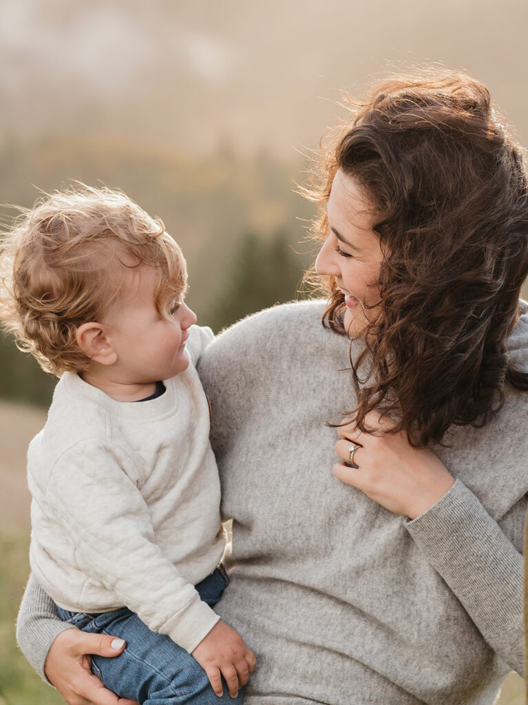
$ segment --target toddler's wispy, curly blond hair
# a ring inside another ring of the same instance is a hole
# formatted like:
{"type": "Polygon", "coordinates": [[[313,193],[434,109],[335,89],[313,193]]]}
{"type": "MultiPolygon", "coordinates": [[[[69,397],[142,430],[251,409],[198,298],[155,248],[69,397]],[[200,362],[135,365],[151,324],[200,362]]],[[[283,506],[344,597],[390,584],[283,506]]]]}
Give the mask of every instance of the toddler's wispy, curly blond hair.
{"type": "Polygon", "coordinates": [[[42,369],[60,375],[87,369],[77,329],[103,321],[125,286],[125,273],[156,268],[154,305],[186,286],[185,259],[159,219],[121,191],[80,184],[53,192],[23,211],[4,233],[0,319],[42,369]]]}

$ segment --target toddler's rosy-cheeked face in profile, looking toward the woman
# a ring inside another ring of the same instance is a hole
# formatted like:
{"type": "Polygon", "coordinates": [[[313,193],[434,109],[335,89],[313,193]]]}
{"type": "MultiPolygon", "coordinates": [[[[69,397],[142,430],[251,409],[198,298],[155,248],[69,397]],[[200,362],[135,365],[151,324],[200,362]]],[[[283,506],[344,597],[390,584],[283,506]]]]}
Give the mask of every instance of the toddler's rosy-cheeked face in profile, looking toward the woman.
{"type": "Polygon", "coordinates": [[[140,266],[127,276],[130,282],[123,287],[122,300],[106,321],[118,355],[113,372],[124,384],[170,379],[188,367],[185,341],[196,316],[183,302],[183,293],[168,302],[166,317],[159,314],[154,267],[140,266]]]}

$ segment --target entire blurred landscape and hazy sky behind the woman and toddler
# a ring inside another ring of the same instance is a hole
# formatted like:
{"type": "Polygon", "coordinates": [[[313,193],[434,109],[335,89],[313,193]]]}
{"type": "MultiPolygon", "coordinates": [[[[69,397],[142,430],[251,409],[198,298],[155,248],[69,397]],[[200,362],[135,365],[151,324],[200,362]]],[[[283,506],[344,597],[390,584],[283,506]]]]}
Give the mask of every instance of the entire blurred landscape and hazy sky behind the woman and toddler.
{"type": "MultiPolygon", "coordinates": [[[[188,302],[219,331],[301,295],[314,209],[295,183],[343,89],[463,68],[528,145],[527,23],[526,0],[0,0],[0,202],[31,207],[73,179],[122,188],[183,247],[188,302]]],[[[6,338],[0,362],[0,705],[57,704],[13,635],[25,450],[55,380],[6,338]]],[[[524,702],[519,678],[500,702],[524,702]]]]}

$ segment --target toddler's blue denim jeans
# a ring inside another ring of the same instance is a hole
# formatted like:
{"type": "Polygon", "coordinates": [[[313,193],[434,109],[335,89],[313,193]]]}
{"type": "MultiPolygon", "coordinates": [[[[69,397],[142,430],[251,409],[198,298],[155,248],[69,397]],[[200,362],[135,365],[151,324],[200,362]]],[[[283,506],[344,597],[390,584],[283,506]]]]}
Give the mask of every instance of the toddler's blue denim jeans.
{"type": "MultiPolygon", "coordinates": [[[[210,607],[216,605],[228,584],[223,566],[196,586],[210,607]]],[[[230,705],[242,704],[242,689],[231,698],[223,681],[223,696],[211,688],[203,668],[188,651],[170,637],[151,632],[128,608],[112,612],[68,612],[57,608],[61,620],[83,632],[109,634],[125,639],[123,654],[115,658],[92,656],[92,671],[104,685],[122,698],[142,705],[230,705]]]]}

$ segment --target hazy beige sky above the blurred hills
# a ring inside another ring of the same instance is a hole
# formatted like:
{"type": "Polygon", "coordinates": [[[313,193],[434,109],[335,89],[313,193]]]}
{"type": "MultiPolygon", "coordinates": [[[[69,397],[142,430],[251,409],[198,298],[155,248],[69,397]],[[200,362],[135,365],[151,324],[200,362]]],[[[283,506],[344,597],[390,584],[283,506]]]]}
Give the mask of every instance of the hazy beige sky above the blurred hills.
{"type": "Polygon", "coordinates": [[[315,147],[343,88],[441,61],[528,143],[527,0],[0,0],[0,137],[315,147]]]}

